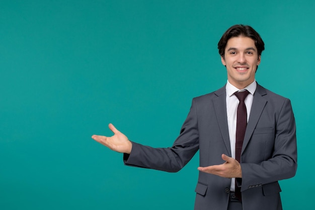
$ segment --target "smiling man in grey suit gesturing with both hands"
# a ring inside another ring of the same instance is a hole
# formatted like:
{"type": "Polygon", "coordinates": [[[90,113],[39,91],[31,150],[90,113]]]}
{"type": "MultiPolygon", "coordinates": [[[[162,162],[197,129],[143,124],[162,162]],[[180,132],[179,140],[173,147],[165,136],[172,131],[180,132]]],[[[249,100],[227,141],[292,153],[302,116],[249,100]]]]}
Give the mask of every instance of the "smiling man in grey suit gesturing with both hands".
{"type": "Polygon", "coordinates": [[[124,153],[129,166],[177,172],[199,150],[195,209],[282,209],[278,180],[297,168],[290,100],[257,84],[264,42],[250,26],[234,25],[218,43],[226,85],[196,97],[172,148],[130,142],[114,125],[92,138],[124,153]]]}

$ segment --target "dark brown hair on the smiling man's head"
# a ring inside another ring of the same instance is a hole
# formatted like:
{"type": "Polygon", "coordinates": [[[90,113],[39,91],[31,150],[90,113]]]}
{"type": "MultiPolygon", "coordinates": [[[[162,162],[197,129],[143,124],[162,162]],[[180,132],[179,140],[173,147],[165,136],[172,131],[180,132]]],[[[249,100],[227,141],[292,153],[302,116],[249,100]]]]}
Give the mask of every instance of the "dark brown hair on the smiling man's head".
{"type": "Polygon", "coordinates": [[[250,26],[244,26],[242,24],[231,26],[222,35],[220,41],[218,42],[219,54],[224,58],[225,47],[227,41],[232,37],[244,36],[249,37],[254,40],[255,46],[257,48],[258,56],[261,55],[262,51],[265,49],[265,43],[260,37],[260,35],[250,26]]]}

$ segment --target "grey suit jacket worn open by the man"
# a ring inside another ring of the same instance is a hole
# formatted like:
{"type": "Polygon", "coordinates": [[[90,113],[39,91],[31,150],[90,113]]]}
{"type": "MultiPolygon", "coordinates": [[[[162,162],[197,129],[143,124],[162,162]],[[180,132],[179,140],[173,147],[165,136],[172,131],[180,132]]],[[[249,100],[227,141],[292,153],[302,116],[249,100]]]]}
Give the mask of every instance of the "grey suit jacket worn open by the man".
{"type": "MultiPolygon", "coordinates": [[[[225,86],[194,98],[180,135],[171,148],[132,143],[129,166],[177,172],[199,149],[200,166],[222,164],[231,156],[225,86]]],[[[244,210],[282,209],[278,180],[297,168],[295,120],[289,99],[257,85],[241,154],[244,210]]],[[[231,180],[199,172],[195,209],[227,209],[231,180]]]]}

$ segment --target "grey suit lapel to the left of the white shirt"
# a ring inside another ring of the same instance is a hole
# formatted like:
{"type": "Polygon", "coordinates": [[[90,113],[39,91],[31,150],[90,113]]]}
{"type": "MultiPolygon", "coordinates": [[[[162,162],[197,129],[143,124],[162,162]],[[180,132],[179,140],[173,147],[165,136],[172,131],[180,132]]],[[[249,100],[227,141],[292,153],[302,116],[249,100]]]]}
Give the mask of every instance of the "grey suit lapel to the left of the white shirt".
{"type": "Polygon", "coordinates": [[[226,91],[225,86],[214,94],[217,96],[212,99],[213,107],[216,114],[216,119],[219,125],[219,129],[223,138],[223,142],[225,144],[226,150],[228,152],[228,156],[231,156],[231,147],[228,135],[228,125],[227,125],[227,114],[226,114],[226,91]]]}

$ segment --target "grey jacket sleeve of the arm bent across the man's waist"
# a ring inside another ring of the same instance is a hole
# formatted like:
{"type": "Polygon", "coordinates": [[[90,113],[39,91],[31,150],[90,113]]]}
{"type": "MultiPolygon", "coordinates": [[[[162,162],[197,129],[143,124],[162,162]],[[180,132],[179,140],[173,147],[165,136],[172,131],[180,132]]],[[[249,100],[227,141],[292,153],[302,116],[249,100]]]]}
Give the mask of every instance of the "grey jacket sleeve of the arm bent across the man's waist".
{"type": "Polygon", "coordinates": [[[241,191],[295,175],[297,169],[295,119],[289,99],[285,99],[275,122],[274,149],[261,163],[241,163],[241,191]]]}

